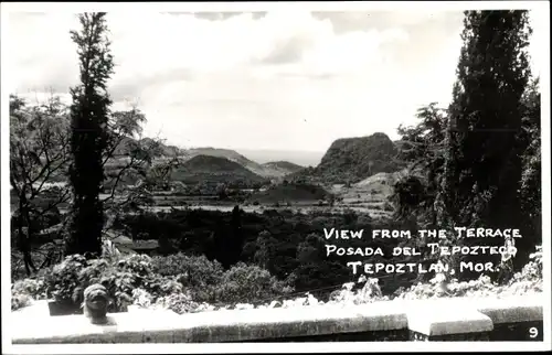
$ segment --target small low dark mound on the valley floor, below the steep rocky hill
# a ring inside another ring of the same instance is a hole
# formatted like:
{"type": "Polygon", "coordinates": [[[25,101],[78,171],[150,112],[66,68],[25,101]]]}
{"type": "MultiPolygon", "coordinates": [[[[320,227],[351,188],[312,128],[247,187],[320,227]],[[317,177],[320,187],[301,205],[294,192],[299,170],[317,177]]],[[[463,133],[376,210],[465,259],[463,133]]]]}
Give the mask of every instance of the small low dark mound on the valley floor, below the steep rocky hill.
{"type": "Polygon", "coordinates": [[[255,193],[251,200],[259,203],[317,203],[329,200],[331,194],[325,189],[312,184],[288,183],[273,185],[268,190],[255,193]]]}

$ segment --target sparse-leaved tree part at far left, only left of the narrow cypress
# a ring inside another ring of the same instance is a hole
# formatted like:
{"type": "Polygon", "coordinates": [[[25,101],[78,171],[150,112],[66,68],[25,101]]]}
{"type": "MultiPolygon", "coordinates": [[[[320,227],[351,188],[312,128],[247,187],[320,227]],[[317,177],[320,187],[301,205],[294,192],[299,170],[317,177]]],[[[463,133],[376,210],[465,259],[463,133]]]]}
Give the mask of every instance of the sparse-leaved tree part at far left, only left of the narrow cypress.
{"type": "Polygon", "coordinates": [[[67,129],[66,108],[59,97],[28,106],[10,96],[10,185],[17,202],[12,241],[22,254],[26,275],[40,268],[34,265],[31,248],[38,233],[51,227],[43,223],[44,217],[70,200],[63,185],[52,184],[65,180],[67,129]]]}

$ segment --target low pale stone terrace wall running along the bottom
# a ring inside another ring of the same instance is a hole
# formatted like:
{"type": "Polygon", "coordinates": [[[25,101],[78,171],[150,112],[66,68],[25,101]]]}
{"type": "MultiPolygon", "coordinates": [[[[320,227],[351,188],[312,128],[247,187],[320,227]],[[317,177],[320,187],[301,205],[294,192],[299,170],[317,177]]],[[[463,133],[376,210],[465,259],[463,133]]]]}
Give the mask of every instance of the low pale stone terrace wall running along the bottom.
{"type": "Polygon", "coordinates": [[[178,315],[138,310],[50,316],[47,305],[12,312],[13,344],[543,341],[544,297],[432,299],[362,305],[232,310],[178,315]]]}

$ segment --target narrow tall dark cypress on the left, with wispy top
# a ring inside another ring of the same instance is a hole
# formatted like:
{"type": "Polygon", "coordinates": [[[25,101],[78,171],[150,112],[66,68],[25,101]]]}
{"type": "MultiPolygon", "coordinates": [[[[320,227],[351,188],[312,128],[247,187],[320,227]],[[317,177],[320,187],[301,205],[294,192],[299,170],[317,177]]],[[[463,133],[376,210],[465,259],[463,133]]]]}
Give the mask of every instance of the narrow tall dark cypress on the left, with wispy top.
{"type": "Polygon", "coordinates": [[[77,45],[81,84],[72,88],[70,181],[73,187],[72,219],[66,254],[102,252],[103,205],[99,192],[104,181],[102,162],[107,144],[107,118],[112,100],[107,80],[113,74],[113,56],[106,36],[105,13],[78,15],[81,30],[72,31],[77,45]]]}

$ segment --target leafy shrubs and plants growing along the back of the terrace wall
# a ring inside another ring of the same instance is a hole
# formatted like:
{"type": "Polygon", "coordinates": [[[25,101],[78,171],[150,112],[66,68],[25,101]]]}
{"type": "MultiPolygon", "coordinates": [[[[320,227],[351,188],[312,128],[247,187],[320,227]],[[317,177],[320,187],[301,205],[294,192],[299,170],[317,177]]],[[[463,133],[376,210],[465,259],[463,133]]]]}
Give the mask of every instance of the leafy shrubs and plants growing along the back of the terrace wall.
{"type": "Polygon", "coordinates": [[[205,257],[130,256],[123,259],[87,260],[74,255],[40,275],[12,284],[12,310],[29,305],[32,300],[55,298],[81,302],[83,290],[102,283],[112,298],[109,311],[120,312],[134,304],[162,308],[179,314],[217,309],[289,308],[325,303],[362,304],[393,299],[431,299],[443,297],[508,297],[542,292],[542,250],[507,284],[493,283],[481,276],[469,282],[452,280],[444,284],[439,277],[428,282],[401,288],[383,294],[376,279],[359,278],[331,288],[329,298],[320,300],[310,292],[294,292],[257,266],[237,263],[224,271],[216,261],[205,257]]]}

